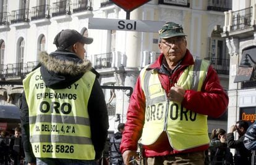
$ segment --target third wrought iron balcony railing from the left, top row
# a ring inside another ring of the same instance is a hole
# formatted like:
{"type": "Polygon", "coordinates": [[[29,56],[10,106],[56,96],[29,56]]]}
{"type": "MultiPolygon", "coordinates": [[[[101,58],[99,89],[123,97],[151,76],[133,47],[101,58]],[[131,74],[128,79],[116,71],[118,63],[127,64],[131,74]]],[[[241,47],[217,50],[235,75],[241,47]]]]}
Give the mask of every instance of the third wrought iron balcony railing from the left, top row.
{"type": "Polygon", "coordinates": [[[50,9],[51,9],[51,6],[46,4],[32,7],[31,20],[50,18],[50,9]]]}

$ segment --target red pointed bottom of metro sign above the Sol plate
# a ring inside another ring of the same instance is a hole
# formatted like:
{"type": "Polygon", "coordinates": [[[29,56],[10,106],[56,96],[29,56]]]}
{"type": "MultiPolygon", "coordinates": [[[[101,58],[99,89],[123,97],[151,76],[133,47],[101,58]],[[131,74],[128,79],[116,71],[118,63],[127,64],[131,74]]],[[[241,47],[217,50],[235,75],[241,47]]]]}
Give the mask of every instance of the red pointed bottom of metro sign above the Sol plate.
{"type": "Polygon", "coordinates": [[[114,2],[114,4],[121,7],[126,12],[130,12],[151,0],[110,0],[110,1],[114,2]]]}

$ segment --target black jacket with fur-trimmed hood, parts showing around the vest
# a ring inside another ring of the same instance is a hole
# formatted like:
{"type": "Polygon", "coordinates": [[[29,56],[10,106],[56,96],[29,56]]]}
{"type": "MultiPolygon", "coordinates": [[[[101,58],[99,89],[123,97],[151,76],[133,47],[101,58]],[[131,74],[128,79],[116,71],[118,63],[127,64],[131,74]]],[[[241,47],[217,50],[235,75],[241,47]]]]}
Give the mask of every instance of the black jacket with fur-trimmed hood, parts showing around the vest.
{"type": "MultiPolygon", "coordinates": [[[[64,89],[80,79],[89,70],[98,77],[98,73],[92,68],[92,64],[88,60],[81,60],[77,55],[67,51],[60,52],[56,50],[49,55],[42,52],[40,54],[40,64],[36,68],[38,67],[40,67],[45,85],[51,89],[64,89]]],[[[20,110],[25,157],[29,163],[35,163],[35,156],[32,153],[32,146],[29,141],[28,105],[24,93],[22,94],[20,110]]],[[[92,142],[96,152],[95,159],[100,159],[105,147],[109,123],[105,97],[98,79],[93,84],[92,93],[88,100],[88,113],[92,142]]]]}

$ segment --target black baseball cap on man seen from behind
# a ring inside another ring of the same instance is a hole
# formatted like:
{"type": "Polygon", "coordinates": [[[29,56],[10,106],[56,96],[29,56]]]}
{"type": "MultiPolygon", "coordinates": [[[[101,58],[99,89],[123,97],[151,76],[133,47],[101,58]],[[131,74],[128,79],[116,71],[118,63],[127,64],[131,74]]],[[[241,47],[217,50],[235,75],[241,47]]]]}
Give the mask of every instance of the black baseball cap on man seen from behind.
{"type": "Polygon", "coordinates": [[[75,44],[75,42],[81,42],[83,44],[92,44],[93,38],[82,36],[76,30],[62,30],[54,38],[53,44],[56,45],[58,50],[64,50],[75,44]]]}

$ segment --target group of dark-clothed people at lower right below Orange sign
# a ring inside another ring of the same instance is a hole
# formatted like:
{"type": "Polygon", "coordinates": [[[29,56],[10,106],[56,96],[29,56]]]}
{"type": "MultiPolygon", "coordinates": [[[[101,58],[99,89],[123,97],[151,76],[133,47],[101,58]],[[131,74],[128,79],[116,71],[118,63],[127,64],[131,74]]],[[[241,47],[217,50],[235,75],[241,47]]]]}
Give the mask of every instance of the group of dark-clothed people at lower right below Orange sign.
{"type": "Polygon", "coordinates": [[[249,124],[240,120],[230,127],[228,134],[224,129],[213,129],[208,148],[209,159],[205,164],[252,164],[252,150],[256,149],[253,141],[256,136],[254,127],[255,124],[252,124],[248,129],[249,124]],[[237,132],[237,140],[234,132],[237,132]],[[230,151],[231,148],[234,149],[234,155],[230,151]]]}

